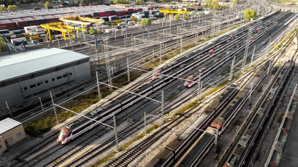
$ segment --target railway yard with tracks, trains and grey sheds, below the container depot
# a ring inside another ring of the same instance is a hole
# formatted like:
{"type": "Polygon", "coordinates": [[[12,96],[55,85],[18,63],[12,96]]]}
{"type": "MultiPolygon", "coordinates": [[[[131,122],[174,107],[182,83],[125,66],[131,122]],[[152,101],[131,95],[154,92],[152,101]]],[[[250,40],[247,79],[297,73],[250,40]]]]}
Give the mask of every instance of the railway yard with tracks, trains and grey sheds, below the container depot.
{"type": "Polygon", "coordinates": [[[26,51],[6,44],[0,166],[298,166],[297,16],[240,0],[26,51]]]}

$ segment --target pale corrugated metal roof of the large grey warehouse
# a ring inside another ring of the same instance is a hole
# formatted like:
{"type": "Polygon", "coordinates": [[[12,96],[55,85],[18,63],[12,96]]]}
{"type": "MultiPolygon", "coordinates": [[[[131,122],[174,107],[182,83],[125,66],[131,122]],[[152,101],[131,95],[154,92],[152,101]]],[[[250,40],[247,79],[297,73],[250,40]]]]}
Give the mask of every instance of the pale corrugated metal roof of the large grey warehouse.
{"type": "Polygon", "coordinates": [[[81,53],[59,48],[43,49],[0,58],[0,81],[85,59],[81,53]]]}

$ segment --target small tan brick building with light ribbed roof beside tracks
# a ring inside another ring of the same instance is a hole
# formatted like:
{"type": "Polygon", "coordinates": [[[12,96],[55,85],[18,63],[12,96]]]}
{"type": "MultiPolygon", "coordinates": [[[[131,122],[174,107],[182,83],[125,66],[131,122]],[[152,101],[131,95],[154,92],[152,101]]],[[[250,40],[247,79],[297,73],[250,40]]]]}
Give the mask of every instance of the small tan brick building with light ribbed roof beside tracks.
{"type": "Polygon", "coordinates": [[[26,137],[23,124],[11,118],[0,121],[0,154],[26,137]]]}

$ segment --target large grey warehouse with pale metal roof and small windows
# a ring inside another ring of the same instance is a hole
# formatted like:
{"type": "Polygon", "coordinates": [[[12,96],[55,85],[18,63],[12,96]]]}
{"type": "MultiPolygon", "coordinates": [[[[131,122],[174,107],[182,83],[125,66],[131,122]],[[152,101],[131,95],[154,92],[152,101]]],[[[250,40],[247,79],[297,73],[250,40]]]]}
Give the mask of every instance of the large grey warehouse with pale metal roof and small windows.
{"type": "Polygon", "coordinates": [[[22,103],[89,79],[89,56],[50,48],[0,58],[0,105],[22,103]]]}

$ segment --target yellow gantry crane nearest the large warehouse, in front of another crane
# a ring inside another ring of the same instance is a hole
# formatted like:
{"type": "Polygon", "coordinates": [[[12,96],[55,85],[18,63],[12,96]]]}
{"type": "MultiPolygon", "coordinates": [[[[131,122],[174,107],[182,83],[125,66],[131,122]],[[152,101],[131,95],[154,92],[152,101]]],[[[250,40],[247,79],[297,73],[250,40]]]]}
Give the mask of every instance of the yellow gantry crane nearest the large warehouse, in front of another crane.
{"type": "MultiPolygon", "coordinates": [[[[49,35],[49,40],[53,40],[52,36],[51,36],[51,31],[50,30],[55,30],[55,31],[61,31],[62,32],[62,35],[64,37],[64,40],[69,40],[69,38],[66,37],[66,33],[68,34],[68,36],[70,37],[71,35],[73,35],[73,30],[74,30],[74,27],[72,26],[66,26],[64,25],[63,22],[57,22],[57,23],[47,23],[47,24],[41,24],[40,25],[42,28],[44,28],[46,31],[46,36],[49,35]],[[69,34],[71,33],[71,34],[69,34]]],[[[76,31],[85,31],[85,28],[76,28],[75,29],[76,31]]],[[[72,37],[72,39],[75,38],[75,37],[72,37]]]]}

